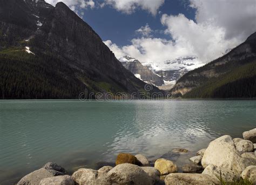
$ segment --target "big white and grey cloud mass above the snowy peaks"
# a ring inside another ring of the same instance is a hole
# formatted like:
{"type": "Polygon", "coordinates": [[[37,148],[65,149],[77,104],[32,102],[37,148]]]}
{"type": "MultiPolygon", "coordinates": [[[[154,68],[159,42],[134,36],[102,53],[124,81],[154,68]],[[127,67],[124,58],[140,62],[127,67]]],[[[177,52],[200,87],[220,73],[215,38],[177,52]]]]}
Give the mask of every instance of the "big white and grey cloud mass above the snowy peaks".
{"type": "Polygon", "coordinates": [[[191,0],[196,9],[196,20],[183,14],[176,16],[163,14],[161,24],[172,39],[153,38],[149,25],[136,32],[142,37],[131,40],[130,45],[117,46],[110,40],[105,42],[122,57],[129,54],[142,63],[156,63],[177,57],[196,56],[199,63],[207,63],[220,57],[227,49],[232,49],[256,31],[255,0],[191,0]]]}

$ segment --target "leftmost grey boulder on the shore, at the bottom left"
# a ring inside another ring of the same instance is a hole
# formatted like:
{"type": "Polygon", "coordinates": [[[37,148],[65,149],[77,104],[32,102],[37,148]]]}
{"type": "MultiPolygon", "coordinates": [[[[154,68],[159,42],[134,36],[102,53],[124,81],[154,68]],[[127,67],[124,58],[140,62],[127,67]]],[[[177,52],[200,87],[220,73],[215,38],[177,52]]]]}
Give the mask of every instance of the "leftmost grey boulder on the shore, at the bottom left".
{"type": "Polygon", "coordinates": [[[54,175],[50,173],[45,168],[41,168],[31,172],[30,174],[24,176],[17,185],[36,185],[39,184],[42,179],[53,177],[54,175]]]}

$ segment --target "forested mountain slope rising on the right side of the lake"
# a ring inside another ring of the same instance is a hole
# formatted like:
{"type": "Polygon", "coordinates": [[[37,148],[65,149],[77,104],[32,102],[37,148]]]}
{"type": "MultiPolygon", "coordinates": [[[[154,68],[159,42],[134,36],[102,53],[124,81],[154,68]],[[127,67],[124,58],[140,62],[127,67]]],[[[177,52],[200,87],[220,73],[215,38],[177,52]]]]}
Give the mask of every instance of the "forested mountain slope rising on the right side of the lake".
{"type": "Polygon", "coordinates": [[[173,97],[256,97],[256,32],[211,63],[186,73],[172,88],[173,97]]]}

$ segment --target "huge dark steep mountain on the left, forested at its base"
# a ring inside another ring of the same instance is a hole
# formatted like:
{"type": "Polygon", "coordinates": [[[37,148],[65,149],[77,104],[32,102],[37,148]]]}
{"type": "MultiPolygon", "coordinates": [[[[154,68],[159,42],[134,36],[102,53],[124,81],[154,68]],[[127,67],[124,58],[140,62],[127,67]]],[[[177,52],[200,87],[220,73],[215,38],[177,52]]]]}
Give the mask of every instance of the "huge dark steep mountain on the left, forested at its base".
{"type": "MultiPolygon", "coordinates": [[[[144,91],[92,28],[64,3],[0,2],[0,98],[78,98],[144,91]]],[[[160,92],[153,87],[152,92],[160,92]]]]}

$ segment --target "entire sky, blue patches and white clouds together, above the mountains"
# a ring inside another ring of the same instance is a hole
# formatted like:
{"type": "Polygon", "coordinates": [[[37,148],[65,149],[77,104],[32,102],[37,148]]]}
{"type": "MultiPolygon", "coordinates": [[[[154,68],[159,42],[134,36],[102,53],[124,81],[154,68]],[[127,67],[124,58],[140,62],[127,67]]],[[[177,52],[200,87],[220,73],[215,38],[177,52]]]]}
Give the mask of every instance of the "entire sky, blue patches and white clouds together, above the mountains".
{"type": "Polygon", "coordinates": [[[128,54],[143,64],[194,57],[191,62],[198,67],[256,31],[255,0],[45,1],[63,1],[117,58],[128,54]]]}

